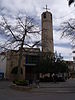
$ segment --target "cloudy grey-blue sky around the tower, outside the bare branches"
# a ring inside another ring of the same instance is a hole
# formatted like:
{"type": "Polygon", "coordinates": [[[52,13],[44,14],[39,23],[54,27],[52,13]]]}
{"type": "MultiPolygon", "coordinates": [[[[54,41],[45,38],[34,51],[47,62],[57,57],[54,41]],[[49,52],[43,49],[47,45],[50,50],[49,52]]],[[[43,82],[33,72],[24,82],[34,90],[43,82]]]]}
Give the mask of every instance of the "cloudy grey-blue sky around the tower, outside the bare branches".
{"type": "Polygon", "coordinates": [[[46,5],[53,16],[54,51],[61,53],[65,60],[73,60],[71,41],[68,38],[62,39],[58,30],[62,22],[75,18],[75,7],[69,7],[67,0],[0,0],[0,7],[7,9],[6,14],[15,15],[17,11],[24,11],[28,16],[33,16],[39,25],[46,5]]]}

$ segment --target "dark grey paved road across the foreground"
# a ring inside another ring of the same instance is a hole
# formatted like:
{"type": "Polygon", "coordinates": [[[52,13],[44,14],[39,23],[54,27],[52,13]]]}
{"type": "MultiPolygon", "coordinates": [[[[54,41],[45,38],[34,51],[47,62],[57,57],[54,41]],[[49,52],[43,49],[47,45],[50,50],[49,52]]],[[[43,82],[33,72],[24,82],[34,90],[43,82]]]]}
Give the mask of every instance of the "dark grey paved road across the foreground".
{"type": "MultiPolygon", "coordinates": [[[[33,89],[32,91],[29,91],[29,92],[17,91],[17,90],[11,89],[9,87],[10,84],[11,82],[8,82],[8,81],[0,81],[0,100],[75,100],[74,92],[61,92],[60,87],[50,88],[50,84],[49,85],[43,84],[44,87],[40,87],[36,90],[33,89]],[[48,86],[49,88],[47,88],[48,86]],[[60,92],[56,92],[56,93],[50,92],[50,91],[55,91],[55,90],[60,90],[60,92]]],[[[61,84],[66,84],[66,83],[61,83],[61,84]]],[[[68,84],[71,86],[73,85],[73,88],[65,87],[64,91],[67,91],[67,89],[68,91],[74,91],[75,80],[73,81],[69,80],[68,84]]],[[[52,86],[56,86],[56,85],[52,84],[52,86]]]]}

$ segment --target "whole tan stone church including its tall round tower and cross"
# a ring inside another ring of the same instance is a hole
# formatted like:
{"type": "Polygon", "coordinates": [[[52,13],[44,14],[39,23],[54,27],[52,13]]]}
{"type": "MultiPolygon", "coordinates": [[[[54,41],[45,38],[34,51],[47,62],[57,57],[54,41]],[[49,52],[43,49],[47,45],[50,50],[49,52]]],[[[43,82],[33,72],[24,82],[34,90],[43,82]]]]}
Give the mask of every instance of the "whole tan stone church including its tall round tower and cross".
{"type": "MultiPolygon", "coordinates": [[[[41,46],[42,51],[39,48],[24,48],[23,58],[21,64],[21,75],[20,79],[33,79],[37,76],[33,73],[35,66],[38,67],[40,54],[43,52],[54,53],[53,44],[53,26],[52,26],[52,14],[48,11],[46,5],[46,11],[41,14],[41,46]],[[29,50],[30,49],[30,50],[29,50]]],[[[13,70],[16,72],[18,64],[19,50],[11,50],[7,52],[7,63],[6,63],[6,78],[14,80],[16,79],[16,74],[12,74],[13,70]]]]}

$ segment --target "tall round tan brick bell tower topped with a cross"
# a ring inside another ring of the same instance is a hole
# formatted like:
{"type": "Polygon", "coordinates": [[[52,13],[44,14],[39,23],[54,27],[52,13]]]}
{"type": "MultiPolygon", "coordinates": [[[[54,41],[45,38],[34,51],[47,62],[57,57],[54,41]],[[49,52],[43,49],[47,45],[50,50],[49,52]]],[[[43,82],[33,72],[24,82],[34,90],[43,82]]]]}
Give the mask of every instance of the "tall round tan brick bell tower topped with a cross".
{"type": "Polygon", "coordinates": [[[42,13],[42,52],[54,52],[52,14],[46,5],[45,12],[42,13]]]}

